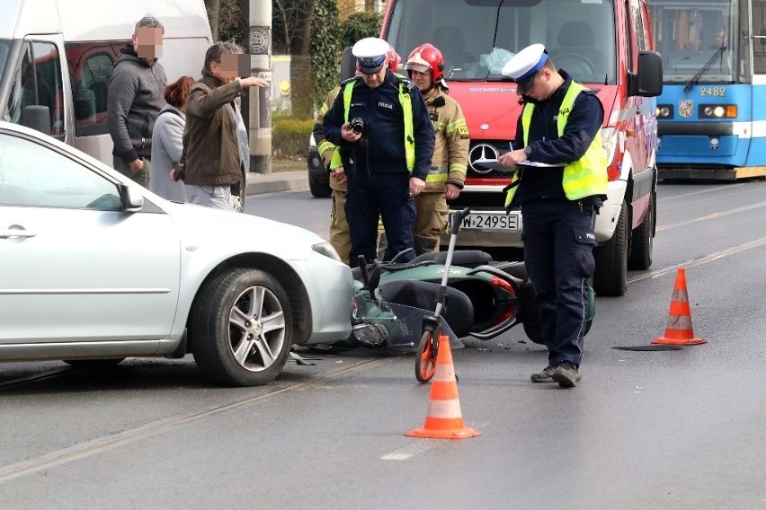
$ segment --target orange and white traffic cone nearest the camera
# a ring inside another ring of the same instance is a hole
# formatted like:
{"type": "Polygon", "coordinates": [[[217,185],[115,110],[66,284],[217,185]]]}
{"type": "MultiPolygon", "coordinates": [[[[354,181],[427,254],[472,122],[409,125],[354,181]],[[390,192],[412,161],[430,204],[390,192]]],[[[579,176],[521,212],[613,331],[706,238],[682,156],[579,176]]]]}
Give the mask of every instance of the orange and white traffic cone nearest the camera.
{"type": "Polygon", "coordinates": [[[463,425],[458,398],[458,380],[452,365],[450,337],[440,335],[436,370],[431,382],[431,400],[425,413],[425,425],[405,433],[409,437],[432,439],[468,439],[481,435],[473,428],[463,425]]]}

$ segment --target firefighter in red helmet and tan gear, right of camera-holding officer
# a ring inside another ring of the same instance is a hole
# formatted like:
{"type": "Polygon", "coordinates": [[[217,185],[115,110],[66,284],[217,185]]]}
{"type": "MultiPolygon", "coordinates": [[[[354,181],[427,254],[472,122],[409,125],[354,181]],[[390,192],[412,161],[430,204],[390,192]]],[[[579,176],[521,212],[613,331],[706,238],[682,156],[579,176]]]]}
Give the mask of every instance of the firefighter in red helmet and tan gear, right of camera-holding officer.
{"type": "Polygon", "coordinates": [[[415,198],[414,248],[420,255],[439,251],[439,237],[447,228],[447,200],[458,198],[466,181],[470,136],[458,101],[447,95],[441,51],[429,43],[414,48],[405,69],[423,93],[436,134],[425,189],[415,198]]]}

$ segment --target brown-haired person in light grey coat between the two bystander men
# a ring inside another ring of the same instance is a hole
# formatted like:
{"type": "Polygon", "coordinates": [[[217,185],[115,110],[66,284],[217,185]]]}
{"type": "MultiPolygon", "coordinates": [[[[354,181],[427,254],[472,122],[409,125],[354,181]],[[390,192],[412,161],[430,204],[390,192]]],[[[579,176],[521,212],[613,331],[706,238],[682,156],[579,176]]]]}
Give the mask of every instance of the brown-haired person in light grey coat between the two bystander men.
{"type": "Polygon", "coordinates": [[[186,201],[183,180],[172,180],[170,169],[181,160],[183,152],[183,126],[186,115],[171,104],[166,104],[155,122],[152,133],[152,166],[149,189],[157,195],[176,202],[186,201]]]}

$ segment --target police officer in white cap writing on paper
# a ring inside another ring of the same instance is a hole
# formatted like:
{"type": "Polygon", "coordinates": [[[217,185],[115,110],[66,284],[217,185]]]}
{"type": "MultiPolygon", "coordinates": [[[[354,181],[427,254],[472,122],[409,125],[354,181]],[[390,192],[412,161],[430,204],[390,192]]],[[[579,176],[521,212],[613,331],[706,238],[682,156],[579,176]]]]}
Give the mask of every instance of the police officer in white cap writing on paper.
{"type": "Polygon", "coordinates": [[[498,161],[515,167],[507,210],[521,207],[524,261],[537,295],[548,366],[532,382],[580,381],[595,215],[606,199],[601,146],[603,107],[596,95],[551,62],[542,44],[523,48],[503,66],[524,105],[512,150],[498,161]],[[524,163],[556,166],[530,166],[524,163]]]}

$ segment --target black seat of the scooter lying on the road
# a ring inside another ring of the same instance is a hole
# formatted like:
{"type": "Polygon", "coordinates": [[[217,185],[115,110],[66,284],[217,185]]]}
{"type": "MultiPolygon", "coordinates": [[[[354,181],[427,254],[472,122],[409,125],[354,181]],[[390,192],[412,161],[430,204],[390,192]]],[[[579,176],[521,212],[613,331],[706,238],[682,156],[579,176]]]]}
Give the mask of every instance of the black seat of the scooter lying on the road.
{"type": "MultiPolygon", "coordinates": [[[[393,280],[380,286],[380,298],[387,303],[435,311],[440,287],[420,280],[393,280]]],[[[467,337],[474,325],[474,305],[464,292],[447,287],[441,316],[458,338],[467,337]]]]}

